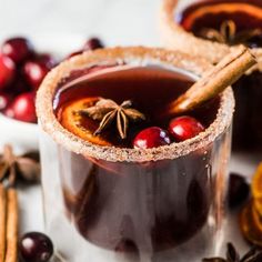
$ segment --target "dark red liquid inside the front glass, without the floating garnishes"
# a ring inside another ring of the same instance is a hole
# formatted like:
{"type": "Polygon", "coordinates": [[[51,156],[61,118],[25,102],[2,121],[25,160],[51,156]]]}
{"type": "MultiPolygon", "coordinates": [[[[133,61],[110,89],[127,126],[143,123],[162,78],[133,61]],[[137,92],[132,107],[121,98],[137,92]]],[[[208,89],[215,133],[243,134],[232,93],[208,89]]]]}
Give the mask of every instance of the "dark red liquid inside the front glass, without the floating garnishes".
{"type": "MultiPolygon", "coordinates": [[[[117,102],[131,99],[148,115],[145,125],[165,128],[169,119],[160,121],[155,115],[192,82],[185,74],[160,67],[119,70],[64,90],[57,95],[56,111],[59,115],[71,100],[90,95],[117,102]]],[[[208,127],[218,107],[215,99],[192,114],[208,127]]],[[[130,138],[142,125],[131,127],[130,138]]],[[[107,139],[120,147],[114,137],[110,131],[107,139]]],[[[123,144],[130,145],[130,140],[123,144]]],[[[174,248],[206,222],[213,202],[212,150],[210,145],[177,160],[113,163],[61,148],[60,175],[68,216],[88,241],[127,255],[137,258],[142,251],[174,248]]]]}

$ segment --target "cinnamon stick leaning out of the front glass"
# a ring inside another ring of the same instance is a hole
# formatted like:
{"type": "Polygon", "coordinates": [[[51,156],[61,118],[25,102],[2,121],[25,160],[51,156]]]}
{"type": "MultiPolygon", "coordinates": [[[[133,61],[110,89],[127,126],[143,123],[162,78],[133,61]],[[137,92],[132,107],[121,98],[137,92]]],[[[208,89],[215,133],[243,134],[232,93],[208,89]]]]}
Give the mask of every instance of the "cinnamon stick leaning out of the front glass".
{"type": "Polygon", "coordinates": [[[245,71],[256,63],[254,56],[243,46],[226,56],[208,71],[178,100],[171,102],[164,114],[181,114],[193,110],[205,101],[216,97],[234,83],[245,71]]]}

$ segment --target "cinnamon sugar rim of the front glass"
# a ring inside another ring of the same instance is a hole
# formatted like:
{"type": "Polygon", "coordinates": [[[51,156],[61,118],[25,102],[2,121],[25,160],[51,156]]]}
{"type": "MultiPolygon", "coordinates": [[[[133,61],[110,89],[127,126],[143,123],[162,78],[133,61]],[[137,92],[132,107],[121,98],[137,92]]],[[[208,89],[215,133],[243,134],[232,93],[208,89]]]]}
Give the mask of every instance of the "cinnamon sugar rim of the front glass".
{"type": "Polygon", "coordinates": [[[59,144],[69,151],[85,158],[107,161],[145,162],[164,159],[175,159],[192,151],[204,149],[215,141],[231,124],[234,111],[234,99],[231,88],[221,94],[220,108],[213,123],[199,135],[183,142],[172,143],[153,149],[129,149],[101,147],[85,141],[66,130],[53,112],[53,98],[59,82],[72,70],[81,70],[94,64],[105,63],[163,64],[179,68],[194,75],[202,75],[212,66],[205,60],[182,52],[163,49],[112,48],[85,52],[67,60],[48,73],[37,94],[37,114],[41,128],[59,144]]]}

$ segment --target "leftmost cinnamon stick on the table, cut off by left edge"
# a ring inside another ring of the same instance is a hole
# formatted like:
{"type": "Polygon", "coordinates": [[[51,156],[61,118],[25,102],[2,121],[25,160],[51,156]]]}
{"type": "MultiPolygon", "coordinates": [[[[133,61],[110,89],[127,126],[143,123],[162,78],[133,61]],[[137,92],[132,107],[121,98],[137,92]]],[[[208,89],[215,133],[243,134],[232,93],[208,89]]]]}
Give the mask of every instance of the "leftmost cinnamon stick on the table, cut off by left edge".
{"type": "Polygon", "coordinates": [[[6,254],[6,218],[7,218],[7,193],[0,184],[0,262],[4,262],[6,254]]]}

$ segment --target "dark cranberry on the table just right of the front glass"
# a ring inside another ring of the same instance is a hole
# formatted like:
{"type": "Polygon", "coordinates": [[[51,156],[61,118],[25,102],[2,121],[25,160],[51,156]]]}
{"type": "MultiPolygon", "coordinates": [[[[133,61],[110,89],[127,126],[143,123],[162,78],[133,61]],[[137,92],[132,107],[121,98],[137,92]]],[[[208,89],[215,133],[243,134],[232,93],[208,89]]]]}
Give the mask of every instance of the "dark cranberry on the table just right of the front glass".
{"type": "Polygon", "coordinates": [[[235,208],[243,203],[250,194],[250,187],[243,175],[231,173],[229,180],[229,205],[235,208]]]}

